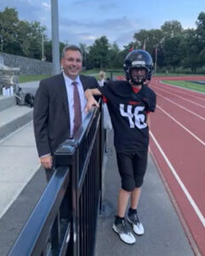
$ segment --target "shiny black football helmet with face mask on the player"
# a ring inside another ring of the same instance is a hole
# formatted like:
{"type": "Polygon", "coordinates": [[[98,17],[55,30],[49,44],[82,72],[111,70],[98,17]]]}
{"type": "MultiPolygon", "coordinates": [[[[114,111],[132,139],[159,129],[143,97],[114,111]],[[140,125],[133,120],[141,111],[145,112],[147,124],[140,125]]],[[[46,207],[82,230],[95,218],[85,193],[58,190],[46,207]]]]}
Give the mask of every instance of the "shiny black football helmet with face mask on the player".
{"type": "Polygon", "coordinates": [[[123,64],[126,79],[131,80],[133,84],[143,84],[145,80],[151,80],[153,61],[151,55],[144,49],[134,49],[125,58],[123,64]],[[146,70],[145,76],[143,78],[133,78],[131,76],[132,68],[144,67],[146,70]]]}

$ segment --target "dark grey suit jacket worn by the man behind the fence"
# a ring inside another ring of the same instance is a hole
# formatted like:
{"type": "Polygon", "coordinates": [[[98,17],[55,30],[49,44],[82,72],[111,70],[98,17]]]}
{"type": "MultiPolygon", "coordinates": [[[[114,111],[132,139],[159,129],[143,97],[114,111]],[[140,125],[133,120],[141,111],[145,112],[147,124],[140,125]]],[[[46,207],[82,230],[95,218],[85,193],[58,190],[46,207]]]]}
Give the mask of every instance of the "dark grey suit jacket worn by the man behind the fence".
{"type": "MultiPolygon", "coordinates": [[[[96,79],[80,75],[83,89],[96,88],[96,79]]],[[[70,114],[65,79],[60,73],[43,79],[38,87],[33,111],[34,133],[39,156],[54,154],[60,143],[70,136],[70,114]]]]}

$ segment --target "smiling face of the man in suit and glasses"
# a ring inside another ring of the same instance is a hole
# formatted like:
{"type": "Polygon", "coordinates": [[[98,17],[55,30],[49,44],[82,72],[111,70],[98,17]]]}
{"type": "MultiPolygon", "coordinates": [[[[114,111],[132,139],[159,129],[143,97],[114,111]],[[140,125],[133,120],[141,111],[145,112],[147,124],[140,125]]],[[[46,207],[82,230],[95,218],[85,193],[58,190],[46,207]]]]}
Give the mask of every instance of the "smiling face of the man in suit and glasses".
{"type": "Polygon", "coordinates": [[[65,56],[61,58],[61,67],[67,77],[75,80],[82,71],[83,57],[78,50],[68,49],[65,56]]]}

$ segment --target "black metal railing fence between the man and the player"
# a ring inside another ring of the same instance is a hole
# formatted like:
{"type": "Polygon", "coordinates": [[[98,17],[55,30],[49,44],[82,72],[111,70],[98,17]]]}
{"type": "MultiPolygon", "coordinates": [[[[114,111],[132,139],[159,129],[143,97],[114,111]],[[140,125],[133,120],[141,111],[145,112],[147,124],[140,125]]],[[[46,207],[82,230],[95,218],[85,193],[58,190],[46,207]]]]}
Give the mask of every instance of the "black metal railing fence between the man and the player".
{"type": "Polygon", "coordinates": [[[94,255],[105,130],[99,108],[56,150],[56,171],[9,256],[94,255]]]}

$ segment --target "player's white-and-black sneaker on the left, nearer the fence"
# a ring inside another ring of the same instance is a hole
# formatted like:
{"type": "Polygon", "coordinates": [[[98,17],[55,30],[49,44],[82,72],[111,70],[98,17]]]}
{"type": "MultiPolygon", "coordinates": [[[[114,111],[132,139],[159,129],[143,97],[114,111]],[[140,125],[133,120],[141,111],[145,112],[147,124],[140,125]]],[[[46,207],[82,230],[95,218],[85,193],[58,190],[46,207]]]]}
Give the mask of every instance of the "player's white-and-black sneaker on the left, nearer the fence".
{"type": "Polygon", "coordinates": [[[128,226],[128,223],[125,220],[123,220],[120,224],[113,224],[112,229],[117,232],[121,240],[126,243],[134,244],[136,241],[128,226]]]}

